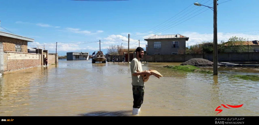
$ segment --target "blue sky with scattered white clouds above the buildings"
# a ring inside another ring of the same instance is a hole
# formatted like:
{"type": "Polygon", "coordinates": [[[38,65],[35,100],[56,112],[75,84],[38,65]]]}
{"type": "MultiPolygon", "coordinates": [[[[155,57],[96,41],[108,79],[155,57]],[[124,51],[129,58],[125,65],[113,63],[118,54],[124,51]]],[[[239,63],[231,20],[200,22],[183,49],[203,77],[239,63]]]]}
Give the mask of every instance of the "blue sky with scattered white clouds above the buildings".
{"type": "MultiPolygon", "coordinates": [[[[218,1],[218,40],[227,41],[235,35],[259,40],[259,1],[225,1],[218,1]]],[[[108,45],[123,43],[127,48],[128,33],[130,48],[138,46],[138,39],[145,49],[144,38],[177,33],[190,38],[187,47],[213,40],[213,11],[193,5],[195,2],[213,7],[213,0],[5,0],[0,2],[0,21],[9,31],[35,39],[29,47],[45,45],[55,52],[58,42],[59,55],[71,51],[93,53],[99,49],[99,40],[105,53],[108,45]]]]}

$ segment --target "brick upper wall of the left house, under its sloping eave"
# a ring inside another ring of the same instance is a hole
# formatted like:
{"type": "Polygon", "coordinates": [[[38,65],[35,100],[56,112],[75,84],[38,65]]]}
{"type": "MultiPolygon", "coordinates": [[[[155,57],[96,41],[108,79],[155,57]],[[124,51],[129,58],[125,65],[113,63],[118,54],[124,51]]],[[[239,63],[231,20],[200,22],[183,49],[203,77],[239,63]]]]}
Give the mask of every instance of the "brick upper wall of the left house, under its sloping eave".
{"type": "Polygon", "coordinates": [[[15,51],[15,45],[22,45],[22,52],[28,52],[28,43],[25,40],[0,36],[0,42],[3,43],[4,51],[15,51]]]}

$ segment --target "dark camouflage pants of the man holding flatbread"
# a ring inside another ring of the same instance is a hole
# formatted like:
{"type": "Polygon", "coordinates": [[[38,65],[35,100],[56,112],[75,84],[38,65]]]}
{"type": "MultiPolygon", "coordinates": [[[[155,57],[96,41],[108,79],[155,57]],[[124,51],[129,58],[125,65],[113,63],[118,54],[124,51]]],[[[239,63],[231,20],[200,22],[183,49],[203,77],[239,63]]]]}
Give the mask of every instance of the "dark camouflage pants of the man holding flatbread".
{"type": "Polygon", "coordinates": [[[144,88],[145,86],[132,85],[133,91],[133,108],[140,108],[144,100],[144,88]]]}

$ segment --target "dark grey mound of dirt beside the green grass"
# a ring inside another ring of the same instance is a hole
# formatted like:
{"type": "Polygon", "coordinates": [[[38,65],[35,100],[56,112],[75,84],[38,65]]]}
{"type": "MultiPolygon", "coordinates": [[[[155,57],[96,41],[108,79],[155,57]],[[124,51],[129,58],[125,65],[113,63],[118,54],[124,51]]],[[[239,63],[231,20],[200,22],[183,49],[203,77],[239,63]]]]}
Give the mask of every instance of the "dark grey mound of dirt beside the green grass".
{"type": "Polygon", "coordinates": [[[191,65],[196,67],[210,67],[213,66],[213,62],[207,59],[193,58],[181,64],[181,66],[184,65],[191,65]]]}

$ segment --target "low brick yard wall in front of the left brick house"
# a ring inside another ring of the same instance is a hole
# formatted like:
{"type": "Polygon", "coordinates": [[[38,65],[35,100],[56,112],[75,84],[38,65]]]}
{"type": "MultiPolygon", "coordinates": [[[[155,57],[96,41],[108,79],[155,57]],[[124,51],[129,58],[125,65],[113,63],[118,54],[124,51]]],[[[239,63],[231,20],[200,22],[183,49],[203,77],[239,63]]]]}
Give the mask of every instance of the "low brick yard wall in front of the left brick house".
{"type": "Polygon", "coordinates": [[[41,66],[41,54],[4,52],[4,72],[35,66],[41,66]]]}

